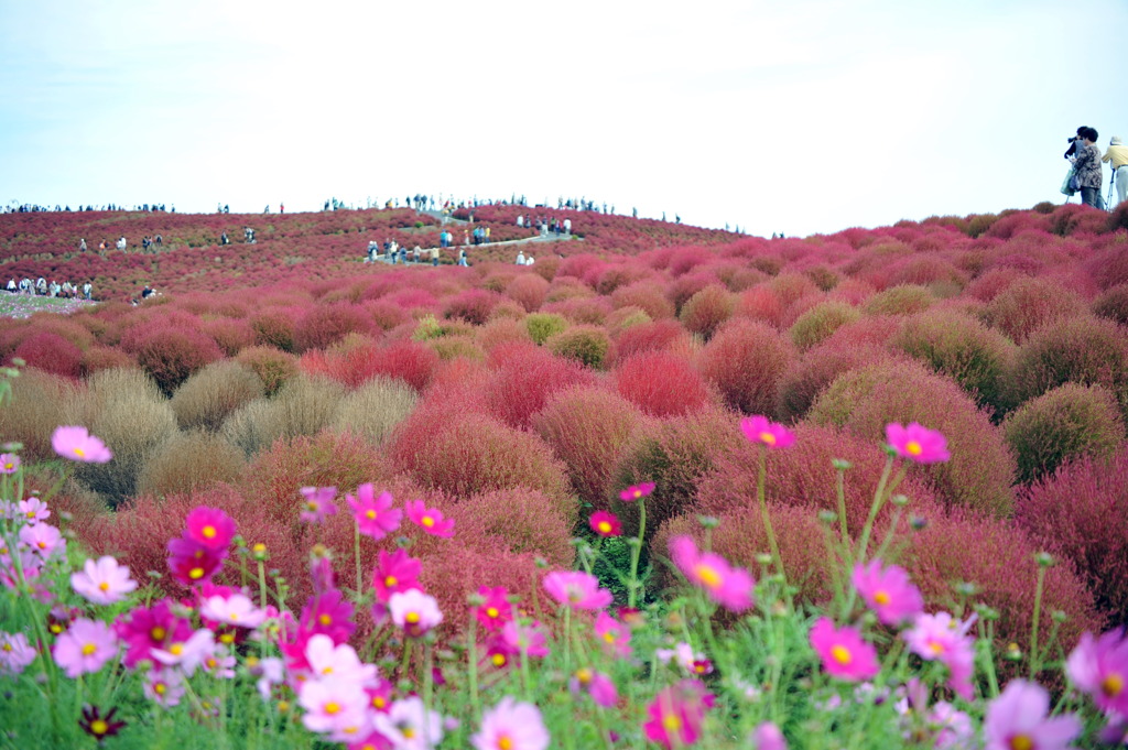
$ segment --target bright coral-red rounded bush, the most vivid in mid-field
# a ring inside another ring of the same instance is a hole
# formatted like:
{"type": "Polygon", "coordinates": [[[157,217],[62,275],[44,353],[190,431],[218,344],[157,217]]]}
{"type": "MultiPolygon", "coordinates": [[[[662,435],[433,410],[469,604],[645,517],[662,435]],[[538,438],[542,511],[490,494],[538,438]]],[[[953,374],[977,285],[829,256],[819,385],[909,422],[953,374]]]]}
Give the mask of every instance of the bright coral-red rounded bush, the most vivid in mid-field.
{"type": "Polygon", "coordinates": [[[619,395],[651,416],[686,414],[713,402],[705,380],[676,354],[635,354],[616,368],[614,377],[619,395]]]}

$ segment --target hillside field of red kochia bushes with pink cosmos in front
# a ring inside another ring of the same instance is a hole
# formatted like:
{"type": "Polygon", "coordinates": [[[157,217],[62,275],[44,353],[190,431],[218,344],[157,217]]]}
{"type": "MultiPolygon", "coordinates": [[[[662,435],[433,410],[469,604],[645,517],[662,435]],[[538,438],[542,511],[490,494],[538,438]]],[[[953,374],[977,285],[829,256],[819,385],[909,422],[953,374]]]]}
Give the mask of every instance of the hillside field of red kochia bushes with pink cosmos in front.
{"type": "Polygon", "coordinates": [[[0,215],[0,747],[1128,743],[1128,209],[537,211],[0,215]]]}

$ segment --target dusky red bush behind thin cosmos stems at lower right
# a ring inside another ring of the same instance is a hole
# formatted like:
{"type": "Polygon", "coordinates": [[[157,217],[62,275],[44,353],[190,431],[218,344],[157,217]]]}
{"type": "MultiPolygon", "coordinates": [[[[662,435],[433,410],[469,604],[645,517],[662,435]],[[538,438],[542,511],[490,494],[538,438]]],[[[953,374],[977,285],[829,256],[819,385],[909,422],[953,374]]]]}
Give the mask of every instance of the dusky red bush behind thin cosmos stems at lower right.
{"type": "MultiPolygon", "coordinates": [[[[1034,589],[1038,582],[1039,546],[1031,541],[1014,522],[986,519],[966,510],[951,517],[929,519],[913,541],[909,558],[902,564],[925,598],[925,609],[951,609],[958,603],[952,584],[967,581],[976,584],[976,600],[999,614],[995,644],[1005,650],[1016,643],[1023,653],[1030,651],[1031,617],[1034,611],[1034,589]]],[[[1096,612],[1093,594],[1078,579],[1073,565],[1061,564],[1046,572],[1042,614],[1038,643],[1049,639],[1056,627],[1045,614],[1066,614],[1058,632],[1058,642],[1068,652],[1085,630],[1099,633],[1103,618],[1096,612]]]]}

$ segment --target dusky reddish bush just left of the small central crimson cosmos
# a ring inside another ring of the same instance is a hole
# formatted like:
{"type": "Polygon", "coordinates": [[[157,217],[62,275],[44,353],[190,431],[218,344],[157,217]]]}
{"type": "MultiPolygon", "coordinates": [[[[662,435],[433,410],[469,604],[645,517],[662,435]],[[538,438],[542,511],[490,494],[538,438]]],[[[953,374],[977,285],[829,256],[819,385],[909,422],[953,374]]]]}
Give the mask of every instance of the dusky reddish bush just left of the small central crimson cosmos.
{"type": "Polygon", "coordinates": [[[496,489],[453,504],[459,544],[482,552],[539,555],[557,568],[575,561],[572,524],[559,503],[536,489],[496,489]]]}

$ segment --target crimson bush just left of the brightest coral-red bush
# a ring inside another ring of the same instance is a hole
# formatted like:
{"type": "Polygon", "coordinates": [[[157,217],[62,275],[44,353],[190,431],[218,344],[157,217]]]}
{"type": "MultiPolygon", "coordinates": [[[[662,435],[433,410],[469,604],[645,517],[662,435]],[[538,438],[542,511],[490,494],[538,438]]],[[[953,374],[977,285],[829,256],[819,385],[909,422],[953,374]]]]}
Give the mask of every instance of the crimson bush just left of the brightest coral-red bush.
{"type": "Polygon", "coordinates": [[[523,356],[505,358],[484,392],[491,414],[511,426],[528,427],[553,394],[593,382],[594,376],[582,364],[534,347],[523,356]]]}

